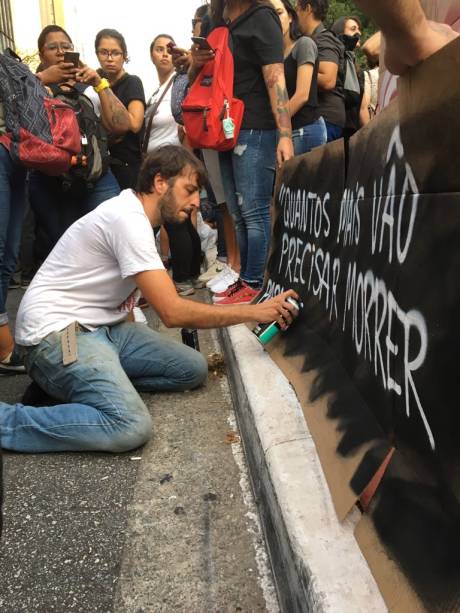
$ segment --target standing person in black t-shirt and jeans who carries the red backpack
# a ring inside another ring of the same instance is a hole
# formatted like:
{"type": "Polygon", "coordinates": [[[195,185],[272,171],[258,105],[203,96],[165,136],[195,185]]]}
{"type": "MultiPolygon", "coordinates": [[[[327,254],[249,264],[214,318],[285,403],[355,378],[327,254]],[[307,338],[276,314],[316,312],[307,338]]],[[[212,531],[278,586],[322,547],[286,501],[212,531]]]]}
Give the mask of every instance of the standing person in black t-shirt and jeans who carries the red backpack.
{"type": "MultiPolygon", "coordinates": [[[[219,304],[241,304],[251,302],[262,286],[271,235],[275,168],[294,154],[283,34],[268,0],[212,0],[211,12],[214,24],[226,23],[231,30],[233,91],[245,105],[236,147],[219,154],[241,260],[240,277],[225,290],[225,296],[219,296],[219,304]]],[[[194,44],[191,78],[213,58],[212,51],[194,44]]]]}

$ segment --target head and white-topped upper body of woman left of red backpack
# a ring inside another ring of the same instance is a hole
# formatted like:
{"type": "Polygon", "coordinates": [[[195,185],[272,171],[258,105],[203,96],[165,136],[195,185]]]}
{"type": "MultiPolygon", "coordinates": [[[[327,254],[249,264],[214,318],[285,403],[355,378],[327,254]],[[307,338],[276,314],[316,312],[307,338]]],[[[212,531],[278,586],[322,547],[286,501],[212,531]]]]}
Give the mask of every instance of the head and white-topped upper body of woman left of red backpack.
{"type": "Polygon", "coordinates": [[[152,94],[145,111],[145,126],[149,126],[152,113],[154,118],[147,151],[152,151],[161,145],[179,145],[178,125],[171,113],[171,86],[175,71],[168,43],[174,40],[167,34],[159,34],[150,45],[150,57],[157,70],[159,87],[152,94]],[[158,104],[160,102],[160,104],[158,104]]]}

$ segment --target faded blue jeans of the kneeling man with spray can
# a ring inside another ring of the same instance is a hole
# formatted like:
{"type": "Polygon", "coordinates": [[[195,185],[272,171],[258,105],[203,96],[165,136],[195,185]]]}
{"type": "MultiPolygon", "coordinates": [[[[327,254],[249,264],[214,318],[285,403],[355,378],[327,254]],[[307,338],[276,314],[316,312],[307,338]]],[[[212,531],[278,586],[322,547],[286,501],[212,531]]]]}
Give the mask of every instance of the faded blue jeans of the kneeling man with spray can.
{"type": "MultiPolygon", "coordinates": [[[[62,365],[62,333],[26,348],[34,381],[64,403],[0,403],[1,446],[25,452],[108,451],[139,447],[152,434],[137,393],[194,388],[206,380],[203,356],[142,324],[123,322],[77,333],[78,361],[62,365]]],[[[184,401],[184,409],[185,401],[184,401]]]]}

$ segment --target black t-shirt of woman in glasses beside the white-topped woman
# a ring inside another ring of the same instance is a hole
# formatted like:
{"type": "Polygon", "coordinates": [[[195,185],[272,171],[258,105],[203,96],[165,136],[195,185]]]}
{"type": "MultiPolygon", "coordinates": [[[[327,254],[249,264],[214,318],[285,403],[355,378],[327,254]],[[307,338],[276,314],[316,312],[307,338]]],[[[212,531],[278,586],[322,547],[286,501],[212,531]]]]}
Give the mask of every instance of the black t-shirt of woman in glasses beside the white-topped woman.
{"type": "MultiPolygon", "coordinates": [[[[132,100],[140,100],[145,108],[145,94],[142,81],[136,75],[126,74],[112,86],[115,96],[128,108],[132,100]]],[[[137,134],[127,132],[121,141],[110,145],[110,155],[116,160],[130,163],[141,161],[141,143],[143,130],[137,134]]]]}

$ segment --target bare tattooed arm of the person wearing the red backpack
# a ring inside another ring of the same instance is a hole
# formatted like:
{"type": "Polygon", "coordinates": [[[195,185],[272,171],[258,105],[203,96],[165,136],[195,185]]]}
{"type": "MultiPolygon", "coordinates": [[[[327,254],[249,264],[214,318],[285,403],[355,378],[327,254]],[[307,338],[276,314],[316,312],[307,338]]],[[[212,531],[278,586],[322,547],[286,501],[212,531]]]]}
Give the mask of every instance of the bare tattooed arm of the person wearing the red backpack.
{"type": "Polygon", "coordinates": [[[286,90],[283,64],[267,64],[262,66],[262,73],[270,97],[276,127],[279,132],[276,157],[278,165],[281,166],[283,162],[289,160],[294,155],[289,96],[286,90]]]}

